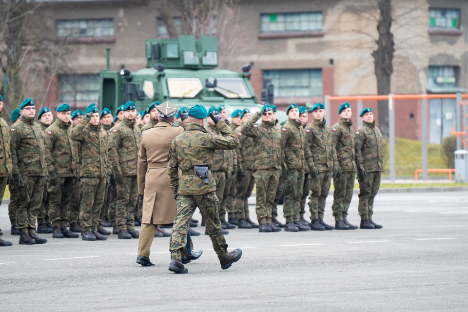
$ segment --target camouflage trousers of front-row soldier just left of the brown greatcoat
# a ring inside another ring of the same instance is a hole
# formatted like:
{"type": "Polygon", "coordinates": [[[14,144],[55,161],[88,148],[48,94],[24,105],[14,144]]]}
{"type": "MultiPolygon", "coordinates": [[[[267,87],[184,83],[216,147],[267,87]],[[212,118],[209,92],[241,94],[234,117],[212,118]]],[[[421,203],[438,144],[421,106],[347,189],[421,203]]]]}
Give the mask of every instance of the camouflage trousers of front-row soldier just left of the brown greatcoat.
{"type": "Polygon", "coordinates": [[[137,176],[124,176],[125,183],[117,183],[116,225],[118,230],[133,230],[138,199],[137,176]]]}

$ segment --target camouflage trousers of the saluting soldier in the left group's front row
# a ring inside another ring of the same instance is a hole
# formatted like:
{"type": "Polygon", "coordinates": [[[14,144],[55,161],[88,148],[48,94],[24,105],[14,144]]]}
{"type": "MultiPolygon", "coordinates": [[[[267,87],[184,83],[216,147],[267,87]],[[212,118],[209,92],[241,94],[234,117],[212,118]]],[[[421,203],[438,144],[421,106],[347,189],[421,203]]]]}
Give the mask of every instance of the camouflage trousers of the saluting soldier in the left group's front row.
{"type": "Polygon", "coordinates": [[[82,177],[80,178],[80,186],[79,220],[81,232],[96,231],[104,203],[106,178],[82,177]]]}

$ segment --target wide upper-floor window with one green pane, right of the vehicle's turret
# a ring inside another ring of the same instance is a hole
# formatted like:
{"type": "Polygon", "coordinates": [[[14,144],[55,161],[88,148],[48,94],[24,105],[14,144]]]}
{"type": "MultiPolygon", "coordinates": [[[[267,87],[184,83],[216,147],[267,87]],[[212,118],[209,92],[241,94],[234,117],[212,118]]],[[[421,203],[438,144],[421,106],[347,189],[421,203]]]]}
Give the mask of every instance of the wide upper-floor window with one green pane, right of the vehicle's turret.
{"type": "Polygon", "coordinates": [[[321,32],[322,12],[262,14],[261,23],[262,33],[321,32]]]}

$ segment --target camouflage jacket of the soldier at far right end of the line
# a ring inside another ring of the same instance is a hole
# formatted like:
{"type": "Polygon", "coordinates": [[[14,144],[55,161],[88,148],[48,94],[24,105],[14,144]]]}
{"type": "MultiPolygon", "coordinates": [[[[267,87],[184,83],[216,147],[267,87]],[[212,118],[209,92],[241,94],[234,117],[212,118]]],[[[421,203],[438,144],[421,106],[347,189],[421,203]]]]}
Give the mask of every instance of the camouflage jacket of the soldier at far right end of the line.
{"type": "Polygon", "coordinates": [[[362,122],[362,127],[356,131],[356,165],[359,169],[364,168],[367,172],[384,170],[382,140],[375,121],[362,122]]]}

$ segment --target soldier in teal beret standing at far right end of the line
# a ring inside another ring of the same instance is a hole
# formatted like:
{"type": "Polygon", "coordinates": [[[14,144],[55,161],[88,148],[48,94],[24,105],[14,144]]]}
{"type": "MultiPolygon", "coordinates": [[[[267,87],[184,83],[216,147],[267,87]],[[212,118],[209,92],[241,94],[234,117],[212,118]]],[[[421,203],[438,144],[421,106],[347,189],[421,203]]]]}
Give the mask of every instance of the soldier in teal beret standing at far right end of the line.
{"type": "Polygon", "coordinates": [[[384,170],[382,154],[382,133],[375,126],[374,113],[370,107],[359,115],[362,126],[356,131],[356,165],[359,181],[359,215],[361,229],[382,229],[372,221],[374,198],[380,188],[384,170]]]}

